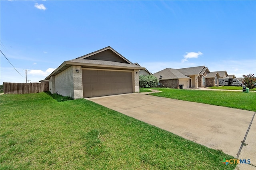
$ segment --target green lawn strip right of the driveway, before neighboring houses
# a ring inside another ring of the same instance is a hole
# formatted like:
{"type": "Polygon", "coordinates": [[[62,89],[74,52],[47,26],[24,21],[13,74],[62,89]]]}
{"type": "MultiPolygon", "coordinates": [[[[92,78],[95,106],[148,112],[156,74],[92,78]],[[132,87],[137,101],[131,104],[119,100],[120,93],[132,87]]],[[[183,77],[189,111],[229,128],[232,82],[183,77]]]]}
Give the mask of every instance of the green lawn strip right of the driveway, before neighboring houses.
{"type": "Polygon", "coordinates": [[[256,111],[256,93],[254,92],[242,93],[236,91],[204,91],[169,88],[154,89],[158,89],[162,92],[152,93],[150,95],[256,111]]]}

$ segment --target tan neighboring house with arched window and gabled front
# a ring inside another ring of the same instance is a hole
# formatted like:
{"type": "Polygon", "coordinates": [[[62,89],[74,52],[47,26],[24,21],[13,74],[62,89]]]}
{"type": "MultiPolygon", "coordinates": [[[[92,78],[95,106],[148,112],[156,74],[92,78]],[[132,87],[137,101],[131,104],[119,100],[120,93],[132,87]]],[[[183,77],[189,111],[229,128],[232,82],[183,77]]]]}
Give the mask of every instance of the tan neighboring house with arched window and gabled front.
{"type": "Polygon", "coordinates": [[[205,66],[177,69],[183,75],[190,77],[189,87],[205,87],[206,75],[210,72],[205,66]]]}

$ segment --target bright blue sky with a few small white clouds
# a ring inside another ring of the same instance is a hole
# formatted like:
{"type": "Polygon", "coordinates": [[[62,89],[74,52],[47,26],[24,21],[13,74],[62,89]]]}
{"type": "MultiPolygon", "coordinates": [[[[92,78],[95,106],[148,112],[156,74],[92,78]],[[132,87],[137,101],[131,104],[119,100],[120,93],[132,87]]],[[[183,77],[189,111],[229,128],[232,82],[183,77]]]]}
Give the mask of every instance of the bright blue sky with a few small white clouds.
{"type": "Polygon", "coordinates": [[[0,1],[2,82],[47,77],[111,46],[155,73],[205,65],[256,73],[256,1],[0,1]]]}

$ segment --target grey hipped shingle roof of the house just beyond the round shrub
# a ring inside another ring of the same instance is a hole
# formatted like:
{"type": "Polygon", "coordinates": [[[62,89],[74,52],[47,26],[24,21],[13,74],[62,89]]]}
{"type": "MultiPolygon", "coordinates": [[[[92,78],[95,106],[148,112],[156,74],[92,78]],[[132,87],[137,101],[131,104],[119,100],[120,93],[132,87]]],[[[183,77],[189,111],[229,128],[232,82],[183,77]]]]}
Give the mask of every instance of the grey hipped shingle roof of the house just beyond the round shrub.
{"type": "Polygon", "coordinates": [[[169,79],[190,79],[190,77],[187,77],[186,75],[180,73],[177,69],[171,69],[166,68],[161,71],[158,71],[157,73],[153,74],[158,79],[160,78],[160,75],[162,76],[161,80],[169,80],[169,79]]]}

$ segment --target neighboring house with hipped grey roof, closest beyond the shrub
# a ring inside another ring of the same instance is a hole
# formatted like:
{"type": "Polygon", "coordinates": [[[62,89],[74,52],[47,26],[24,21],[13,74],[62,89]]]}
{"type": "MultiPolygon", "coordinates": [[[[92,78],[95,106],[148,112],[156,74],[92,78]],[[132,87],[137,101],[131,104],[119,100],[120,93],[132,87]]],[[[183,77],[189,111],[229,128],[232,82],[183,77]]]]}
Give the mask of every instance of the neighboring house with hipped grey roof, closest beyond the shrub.
{"type": "Polygon", "coordinates": [[[177,69],[166,68],[153,74],[159,79],[162,87],[169,87],[173,89],[189,88],[190,77],[180,73],[177,69]]]}

